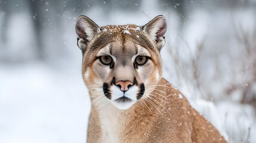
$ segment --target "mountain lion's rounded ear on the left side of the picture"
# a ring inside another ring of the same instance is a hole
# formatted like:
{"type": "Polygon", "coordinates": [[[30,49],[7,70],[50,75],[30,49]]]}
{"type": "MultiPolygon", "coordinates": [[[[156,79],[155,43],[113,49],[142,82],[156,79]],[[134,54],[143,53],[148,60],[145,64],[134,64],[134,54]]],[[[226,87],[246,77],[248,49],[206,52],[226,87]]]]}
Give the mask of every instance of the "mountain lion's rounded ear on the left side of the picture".
{"type": "Polygon", "coordinates": [[[85,15],[79,16],[78,20],[76,20],[76,34],[78,35],[78,46],[80,49],[83,50],[84,46],[99,32],[100,27],[85,15]]]}

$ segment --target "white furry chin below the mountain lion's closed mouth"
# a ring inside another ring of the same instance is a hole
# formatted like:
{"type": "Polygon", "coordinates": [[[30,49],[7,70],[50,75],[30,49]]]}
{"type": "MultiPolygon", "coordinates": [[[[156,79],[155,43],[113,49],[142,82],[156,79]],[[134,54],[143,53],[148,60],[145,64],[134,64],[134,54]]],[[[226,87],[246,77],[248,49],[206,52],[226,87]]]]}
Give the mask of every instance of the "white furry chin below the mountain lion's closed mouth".
{"type": "Polygon", "coordinates": [[[126,110],[130,108],[136,101],[131,100],[127,97],[121,97],[111,102],[113,105],[115,105],[116,108],[119,108],[120,110],[126,110]]]}

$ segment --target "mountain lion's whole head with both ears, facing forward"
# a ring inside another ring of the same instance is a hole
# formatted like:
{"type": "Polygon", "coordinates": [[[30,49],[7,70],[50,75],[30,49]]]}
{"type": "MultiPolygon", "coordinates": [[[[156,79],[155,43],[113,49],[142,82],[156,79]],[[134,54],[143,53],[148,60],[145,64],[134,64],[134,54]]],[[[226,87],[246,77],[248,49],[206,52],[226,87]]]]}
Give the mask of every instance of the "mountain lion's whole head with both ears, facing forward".
{"type": "Polygon", "coordinates": [[[76,23],[83,52],[82,75],[93,104],[111,102],[127,109],[148,98],[162,76],[159,51],[166,21],[158,16],[142,27],[98,27],[88,17],[76,23]]]}

